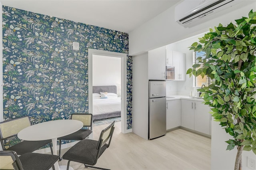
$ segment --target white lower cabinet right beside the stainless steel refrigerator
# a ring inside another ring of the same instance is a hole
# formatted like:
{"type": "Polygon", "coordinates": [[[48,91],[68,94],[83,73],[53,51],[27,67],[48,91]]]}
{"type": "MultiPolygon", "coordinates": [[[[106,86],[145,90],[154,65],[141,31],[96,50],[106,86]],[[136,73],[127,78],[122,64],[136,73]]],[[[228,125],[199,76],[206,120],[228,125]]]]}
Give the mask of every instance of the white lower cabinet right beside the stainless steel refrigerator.
{"type": "Polygon", "coordinates": [[[166,130],[176,128],[181,123],[180,99],[166,101],[166,130]]]}

